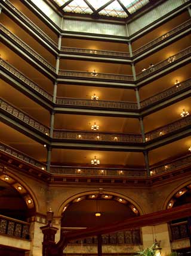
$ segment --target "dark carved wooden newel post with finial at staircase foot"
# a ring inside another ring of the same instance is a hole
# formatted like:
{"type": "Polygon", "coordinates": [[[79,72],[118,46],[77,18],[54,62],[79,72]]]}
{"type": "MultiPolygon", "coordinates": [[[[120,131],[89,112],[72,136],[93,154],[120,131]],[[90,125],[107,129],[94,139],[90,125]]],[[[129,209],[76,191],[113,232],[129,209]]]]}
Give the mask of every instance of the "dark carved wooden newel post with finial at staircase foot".
{"type": "Polygon", "coordinates": [[[44,234],[43,242],[42,242],[42,256],[57,256],[55,235],[57,233],[58,228],[53,227],[54,212],[50,209],[47,212],[47,221],[48,224],[41,227],[42,233],[44,234]]]}

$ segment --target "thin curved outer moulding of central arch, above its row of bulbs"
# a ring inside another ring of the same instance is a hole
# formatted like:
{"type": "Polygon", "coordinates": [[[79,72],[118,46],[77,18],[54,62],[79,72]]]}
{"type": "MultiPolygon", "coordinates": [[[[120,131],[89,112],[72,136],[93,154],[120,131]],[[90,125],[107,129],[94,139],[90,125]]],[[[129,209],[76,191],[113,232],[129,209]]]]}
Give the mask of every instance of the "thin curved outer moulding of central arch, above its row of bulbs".
{"type": "MultiPolygon", "coordinates": [[[[66,207],[69,203],[71,203],[73,200],[75,200],[76,198],[79,198],[79,197],[83,197],[83,196],[87,196],[87,195],[91,195],[91,194],[100,194],[100,189],[97,189],[97,190],[88,190],[88,191],[84,191],[84,192],[80,192],[78,194],[74,194],[72,195],[71,197],[67,198],[65,201],[63,201],[60,206],[58,207],[57,209],[57,216],[61,216],[62,213],[63,213],[63,209],[64,207],[66,207]]],[[[135,202],[134,200],[132,200],[131,198],[127,197],[126,195],[124,194],[120,194],[118,192],[113,192],[113,191],[110,191],[110,190],[103,190],[103,194],[108,194],[108,195],[113,195],[115,197],[119,197],[119,198],[122,198],[128,202],[130,202],[131,204],[133,204],[133,206],[138,210],[138,213],[140,215],[143,215],[144,214],[144,211],[143,209],[140,207],[140,205],[135,202]]]]}

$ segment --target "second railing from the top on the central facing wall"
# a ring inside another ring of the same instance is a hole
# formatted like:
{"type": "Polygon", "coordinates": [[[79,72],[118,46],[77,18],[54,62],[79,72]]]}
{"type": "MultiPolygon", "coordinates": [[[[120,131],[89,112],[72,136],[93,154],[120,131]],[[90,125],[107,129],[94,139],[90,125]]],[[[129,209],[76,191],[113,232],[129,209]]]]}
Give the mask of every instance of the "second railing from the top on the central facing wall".
{"type": "Polygon", "coordinates": [[[73,78],[82,77],[85,79],[117,80],[122,82],[134,81],[133,76],[128,76],[128,75],[106,74],[106,73],[93,74],[93,72],[80,72],[80,71],[73,71],[73,70],[59,70],[58,75],[63,77],[73,77],[73,78]]]}

